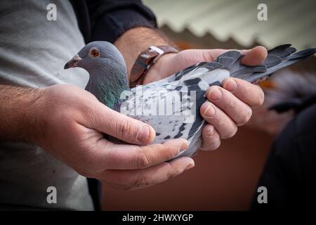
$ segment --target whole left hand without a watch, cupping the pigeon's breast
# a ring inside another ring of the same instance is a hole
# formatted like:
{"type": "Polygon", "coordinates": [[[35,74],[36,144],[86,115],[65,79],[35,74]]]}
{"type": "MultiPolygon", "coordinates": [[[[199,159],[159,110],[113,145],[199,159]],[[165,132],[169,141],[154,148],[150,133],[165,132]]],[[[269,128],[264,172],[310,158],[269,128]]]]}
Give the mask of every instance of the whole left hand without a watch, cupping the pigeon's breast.
{"type": "Polygon", "coordinates": [[[88,91],[58,84],[39,92],[34,143],[83,176],[133,189],[166,181],[194,166],[184,157],[165,162],[187,148],[186,140],[138,146],[154,140],[154,129],[107,108],[88,91]],[[112,143],[104,134],[131,144],[112,143]]]}

